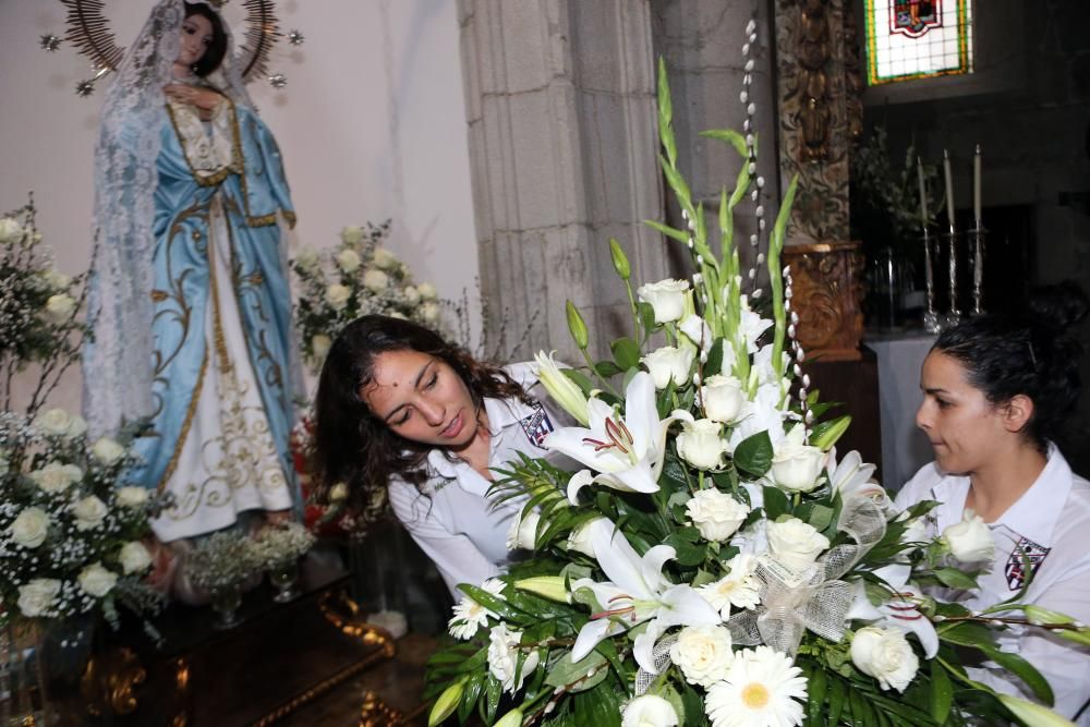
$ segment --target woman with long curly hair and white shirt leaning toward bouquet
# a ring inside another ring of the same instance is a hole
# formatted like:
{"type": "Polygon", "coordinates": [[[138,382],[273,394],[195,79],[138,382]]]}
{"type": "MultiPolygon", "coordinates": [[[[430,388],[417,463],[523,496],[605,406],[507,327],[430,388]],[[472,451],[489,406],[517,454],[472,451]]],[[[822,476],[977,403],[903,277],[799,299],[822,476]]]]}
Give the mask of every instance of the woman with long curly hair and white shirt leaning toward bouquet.
{"type": "Polygon", "coordinates": [[[523,502],[488,499],[494,470],[520,453],[547,457],[545,435],[568,424],[540,388],[533,364],[494,366],[412,322],[358,318],[318,378],[316,498],[343,483],[359,513],[388,497],[458,598],[459,583],[477,585],[509,562],[523,502]]]}

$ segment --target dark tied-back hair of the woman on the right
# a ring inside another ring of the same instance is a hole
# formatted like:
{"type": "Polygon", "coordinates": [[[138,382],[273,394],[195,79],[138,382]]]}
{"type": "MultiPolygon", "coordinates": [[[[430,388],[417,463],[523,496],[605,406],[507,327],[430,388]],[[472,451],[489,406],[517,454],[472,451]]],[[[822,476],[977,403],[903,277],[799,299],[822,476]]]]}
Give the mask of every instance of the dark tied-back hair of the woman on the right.
{"type": "Polygon", "coordinates": [[[1029,397],[1033,415],[1022,433],[1044,452],[1078,403],[1082,346],[1066,329],[1087,315],[1090,301],[1065,281],[1031,291],[1025,307],[969,318],[943,331],[932,350],[956,359],[992,404],[1029,397]]]}

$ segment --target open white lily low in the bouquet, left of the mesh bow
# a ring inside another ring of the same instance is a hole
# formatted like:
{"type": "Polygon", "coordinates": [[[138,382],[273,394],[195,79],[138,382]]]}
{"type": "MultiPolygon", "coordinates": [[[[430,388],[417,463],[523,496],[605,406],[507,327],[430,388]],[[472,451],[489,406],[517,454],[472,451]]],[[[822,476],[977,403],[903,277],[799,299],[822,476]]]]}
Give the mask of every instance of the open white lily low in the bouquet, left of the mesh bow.
{"type": "Polygon", "coordinates": [[[644,621],[646,629],[635,638],[632,653],[637,663],[657,674],[655,642],[673,626],[716,626],[719,614],[690,585],[674,585],[663,575],[663,566],[675,556],[669,545],[656,545],[640,557],[617,526],[606,520],[588,525],[598,565],[608,581],[583,578],[572,589],[590,589],[605,609],[593,614],[579,631],[571,661],[590,654],[604,639],[644,621]]]}

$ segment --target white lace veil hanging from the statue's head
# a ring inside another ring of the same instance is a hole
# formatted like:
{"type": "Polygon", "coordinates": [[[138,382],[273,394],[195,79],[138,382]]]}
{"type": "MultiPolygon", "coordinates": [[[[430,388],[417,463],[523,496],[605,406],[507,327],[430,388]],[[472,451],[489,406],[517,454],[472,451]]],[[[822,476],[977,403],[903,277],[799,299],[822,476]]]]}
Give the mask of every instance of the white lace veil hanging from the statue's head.
{"type": "MultiPolygon", "coordinates": [[[[102,104],[95,147],[96,252],[87,305],[94,339],[83,360],[83,409],[95,436],[153,413],[156,158],[166,119],[162,87],[173,81],[184,19],[183,0],[155,5],[102,104]]],[[[223,62],[206,82],[237,106],[253,108],[226,22],[223,31],[223,62]]]]}

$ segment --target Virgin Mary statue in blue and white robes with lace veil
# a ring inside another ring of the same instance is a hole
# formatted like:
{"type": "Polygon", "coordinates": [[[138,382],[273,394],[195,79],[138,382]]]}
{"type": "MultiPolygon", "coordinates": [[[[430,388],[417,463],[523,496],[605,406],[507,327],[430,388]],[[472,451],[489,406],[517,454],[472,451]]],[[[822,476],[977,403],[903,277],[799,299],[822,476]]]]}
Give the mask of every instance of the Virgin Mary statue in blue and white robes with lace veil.
{"type": "MultiPolygon", "coordinates": [[[[96,433],[149,422],[131,473],[161,542],[298,506],[280,153],[205,2],[162,0],[107,92],[84,356],[96,433]]],[[[279,517],[279,516],[274,516],[279,517]]]]}

